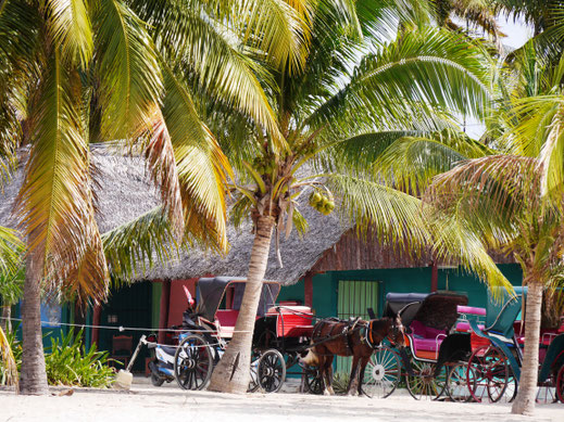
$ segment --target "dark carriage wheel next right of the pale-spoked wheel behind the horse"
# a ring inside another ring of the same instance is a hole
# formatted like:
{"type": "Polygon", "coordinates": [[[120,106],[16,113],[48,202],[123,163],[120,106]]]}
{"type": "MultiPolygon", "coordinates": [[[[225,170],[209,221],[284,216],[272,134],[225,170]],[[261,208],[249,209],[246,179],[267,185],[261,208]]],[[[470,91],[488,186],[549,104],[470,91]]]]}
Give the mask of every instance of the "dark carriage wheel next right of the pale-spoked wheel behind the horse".
{"type": "Polygon", "coordinates": [[[414,375],[405,375],[408,391],[411,396],[421,398],[439,398],[447,386],[447,367],[442,366],[438,376],[435,376],[435,363],[412,360],[414,375]]]}

